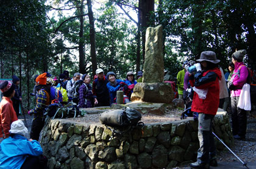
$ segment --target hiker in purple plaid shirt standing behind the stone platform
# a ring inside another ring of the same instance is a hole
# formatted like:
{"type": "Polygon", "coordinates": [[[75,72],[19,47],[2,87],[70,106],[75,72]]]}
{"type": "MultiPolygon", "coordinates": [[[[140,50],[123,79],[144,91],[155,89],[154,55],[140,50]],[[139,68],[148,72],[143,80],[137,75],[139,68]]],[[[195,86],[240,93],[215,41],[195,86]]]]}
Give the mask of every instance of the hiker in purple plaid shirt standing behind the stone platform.
{"type": "Polygon", "coordinates": [[[97,98],[93,97],[93,91],[91,87],[91,78],[90,75],[82,75],[83,84],[79,88],[79,108],[92,108],[93,103],[98,103],[97,98]]]}

